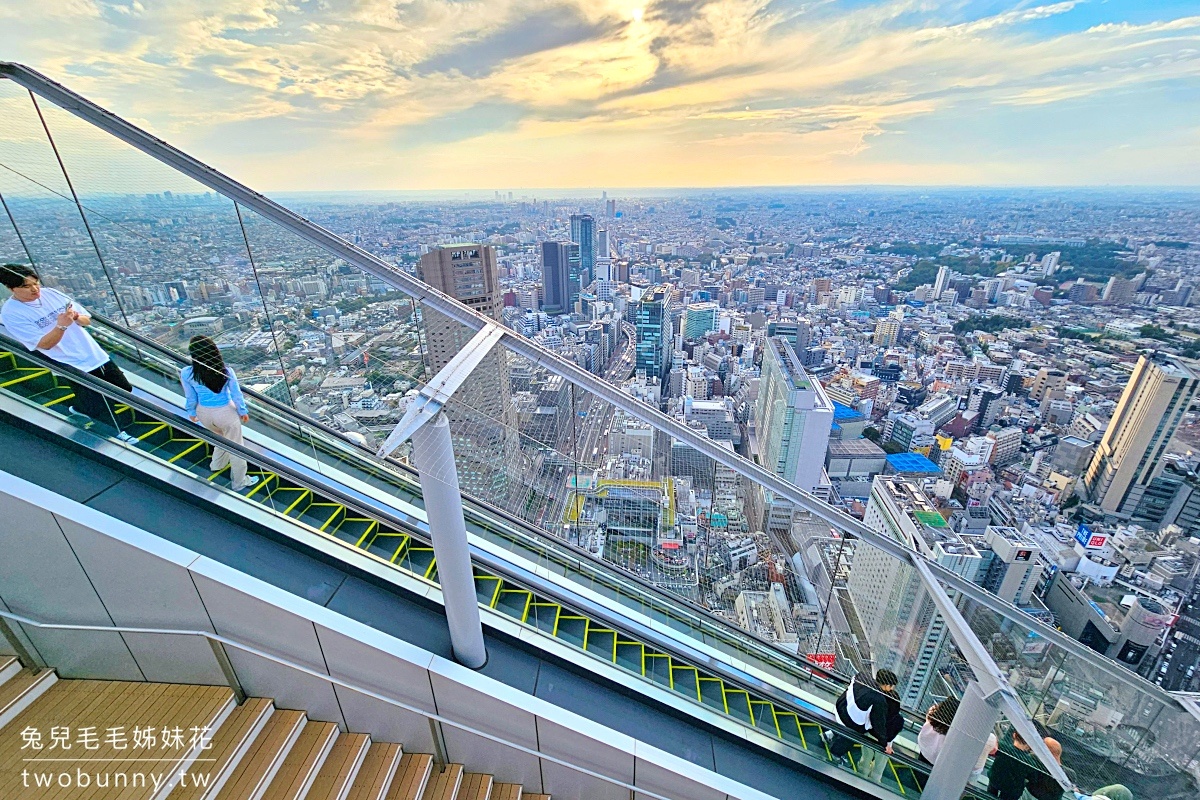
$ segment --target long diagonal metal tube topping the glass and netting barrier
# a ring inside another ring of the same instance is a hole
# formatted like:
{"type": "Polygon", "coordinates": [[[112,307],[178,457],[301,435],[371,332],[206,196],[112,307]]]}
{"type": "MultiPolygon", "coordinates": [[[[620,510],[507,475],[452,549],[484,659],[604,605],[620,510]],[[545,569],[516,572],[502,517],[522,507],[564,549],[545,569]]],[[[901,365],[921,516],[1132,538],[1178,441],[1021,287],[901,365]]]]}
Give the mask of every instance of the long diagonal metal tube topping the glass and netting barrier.
{"type": "MultiPolygon", "coordinates": [[[[616,408],[635,416],[655,428],[674,437],[676,439],[688,444],[698,452],[708,456],[713,461],[728,467],[737,474],[746,477],[761,486],[770,489],[780,498],[794,504],[796,506],[804,509],[812,513],[814,516],[828,522],[830,525],[839,528],[844,531],[848,531],[854,536],[862,539],[868,545],[890,554],[901,561],[910,563],[912,558],[923,559],[928,566],[929,572],[941,583],[946,584],[948,588],[961,593],[970,600],[973,600],[982,606],[989,608],[990,610],[1019,624],[1033,630],[1039,636],[1043,636],[1074,656],[1085,660],[1090,664],[1096,666],[1110,678],[1127,684],[1141,693],[1148,693],[1153,696],[1160,703],[1169,705],[1171,708],[1182,709],[1183,706],[1180,702],[1174,698],[1169,692],[1164,691],[1162,687],[1147,680],[1136,680],[1136,676],[1132,675],[1123,667],[1114,661],[1097,656],[1097,654],[1090,650],[1086,645],[1070,639],[1069,637],[1062,636],[1055,631],[1051,626],[1030,618],[1024,614],[1015,606],[1001,600],[1000,597],[992,595],[982,587],[967,581],[966,578],[953,572],[948,567],[925,559],[924,555],[913,554],[905,545],[893,540],[883,534],[880,534],[868,527],[865,523],[851,517],[850,515],[827,505],[820,498],[812,495],[811,493],[800,489],[799,487],[780,479],[774,473],[763,469],[762,467],[754,464],[752,462],[738,456],[737,453],[728,451],[724,447],[719,447],[710,439],[698,435],[695,431],[690,429],[686,425],[662,414],[655,408],[636,401],[630,396],[622,392],[619,389],[612,386],[607,381],[593,375],[582,367],[558,356],[557,354],[550,351],[542,345],[527,339],[516,331],[505,327],[497,323],[496,320],[475,312],[474,309],[467,307],[466,305],[458,302],[454,297],[438,291],[437,289],[422,283],[415,277],[397,270],[394,265],[384,261],[382,258],[353,245],[336,234],[326,230],[325,228],[306,219],[299,213],[287,209],[278,203],[275,203],[270,198],[254,192],[253,190],[246,187],[245,185],[233,180],[228,175],[209,167],[208,164],[188,156],[187,154],[178,150],[176,148],[167,144],[162,139],[154,137],[152,134],[143,131],[142,128],[134,126],[133,124],[126,121],[125,119],[113,114],[112,112],[92,103],[91,101],[77,95],[66,86],[47,78],[36,70],[31,70],[20,64],[0,61],[0,77],[8,78],[17,84],[24,86],[29,91],[32,91],[41,97],[50,101],[55,106],[74,114],[76,116],[90,122],[91,125],[101,128],[102,131],[109,133],[110,136],[125,142],[126,144],[140,150],[151,158],[160,161],[173,169],[192,178],[193,180],[203,184],[204,186],[211,188],[212,191],[222,194],[235,203],[240,203],[248,209],[252,209],[263,217],[282,225],[295,235],[305,239],[306,241],[325,249],[329,253],[342,258],[343,260],[354,264],[359,269],[368,272],[370,275],[379,278],[380,281],[388,283],[389,285],[400,289],[413,297],[414,301],[420,301],[433,308],[434,311],[449,317],[451,320],[468,327],[473,332],[478,332],[480,329],[486,326],[498,326],[502,330],[502,341],[505,347],[511,351],[521,355],[534,363],[545,367],[550,372],[558,374],[570,381],[572,385],[589,391],[598,397],[605,399],[616,408]]],[[[925,576],[922,576],[925,579],[925,576]]],[[[959,615],[956,609],[952,609],[952,615],[959,615]]],[[[966,636],[973,642],[960,643],[955,640],[960,650],[968,656],[973,656],[983,650],[978,637],[974,631],[966,624],[965,620],[959,620],[960,625],[955,626],[955,632],[958,636],[966,636]]],[[[989,673],[998,674],[998,667],[991,660],[990,656],[986,657],[985,663],[974,663],[978,669],[984,669],[989,673]]]]}

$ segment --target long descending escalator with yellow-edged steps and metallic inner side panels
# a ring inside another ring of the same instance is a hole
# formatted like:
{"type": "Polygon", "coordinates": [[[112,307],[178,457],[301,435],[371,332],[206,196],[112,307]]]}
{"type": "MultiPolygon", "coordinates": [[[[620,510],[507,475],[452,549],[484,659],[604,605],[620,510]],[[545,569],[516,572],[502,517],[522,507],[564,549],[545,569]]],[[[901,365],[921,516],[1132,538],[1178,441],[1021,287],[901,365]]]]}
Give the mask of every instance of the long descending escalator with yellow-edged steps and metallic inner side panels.
{"type": "MultiPolygon", "coordinates": [[[[253,392],[247,392],[253,403],[253,422],[246,431],[247,445],[236,447],[222,443],[182,416],[175,378],[181,362],[175,354],[116,326],[100,325],[96,331],[97,338],[134,383],[132,397],[89,375],[70,374],[61,365],[0,337],[0,389],[4,390],[0,401],[6,410],[12,414],[20,405],[35,407],[77,429],[113,437],[115,429],[71,414],[71,381],[85,384],[114,401],[116,426],[133,437],[128,444],[113,440],[114,446],[137,451],[158,468],[168,468],[232,495],[228,468],[217,473],[209,468],[212,449],[221,444],[247,458],[251,474],[260,479],[256,486],[242,489],[236,503],[251,504],[275,518],[286,518],[289,525],[298,525],[310,535],[367,553],[409,578],[437,584],[437,561],[428,542],[420,486],[407,468],[374,459],[335,432],[320,429],[286,405],[253,392]]],[[[20,416],[30,422],[36,415],[20,416]]],[[[468,503],[466,512],[468,530],[475,536],[504,541],[506,549],[517,555],[527,555],[538,547],[538,534],[520,531],[517,535],[515,521],[498,516],[494,509],[468,503]],[[520,549],[517,543],[521,543],[520,549]]],[[[542,546],[538,563],[550,564],[546,555],[556,554],[556,547],[542,546]]],[[[720,660],[704,657],[703,652],[684,645],[671,646],[673,640],[654,626],[631,624],[619,609],[606,608],[604,602],[580,602],[587,599],[558,583],[538,581],[536,571],[521,569],[518,559],[505,560],[480,547],[473,547],[473,555],[475,587],[482,607],[586,655],[584,662],[594,658],[616,667],[631,679],[629,685],[635,691],[644,691],[637,688],[644,684],[665,690],[671,697],[685,700],[679,708],[698,706],[694,712],[703,709],[708,715],[732,722],[732,727],[726,726],[727,730],[742,727],[766,735],[779,745],[773,747],[775,752],[827,775],[846,772],[844,780],[850,778],[854,786],[862,787],[869,781],[875,790],[899,796],[919,795],[928,768],[908,758],[887,759],[882,776],[860,774],[853,756],[844,766],[835,766],[823,734],[836,726],[830,724],[818,704],[805,700],[799,692],[786,694],[750,675],[739,680],[737,670],[730,674],[731,670],[721,669],[720,660]]],[[[566,563],[600,570],[599,565],[582,565],[560,553],[557,558],[559,565],[566,563]]],[[[623,594],[628,600],[631,594],[640,596],[646,591],[628,587],[623,576],[608,575],[606,579],[607,585],[593,583],[601,599],[623,594]]],[[[654,613],[649,615],[655,616],[654,613]]],[[[679,616],[692,619],[689,613],[679,616]]],[[[670,616],[661,621],[667,627],[672,625],[670,616]]],[[[722,633],[730,639],[737,638],[733,631],[722,633]]],[[[835,681],[828,678],[814,675],[811,680],[822,681],[822,694],[836,691],[835,681]]]]}

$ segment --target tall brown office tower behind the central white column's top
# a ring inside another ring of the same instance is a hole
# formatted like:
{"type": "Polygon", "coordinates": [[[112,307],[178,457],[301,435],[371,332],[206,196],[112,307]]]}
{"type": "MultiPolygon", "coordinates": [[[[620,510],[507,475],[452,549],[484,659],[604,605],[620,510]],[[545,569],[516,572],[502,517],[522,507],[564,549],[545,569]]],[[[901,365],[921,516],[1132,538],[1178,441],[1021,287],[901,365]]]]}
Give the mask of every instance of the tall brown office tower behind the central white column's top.
{"type": "MultiPolygon", "coordinates": [[[[479,313],[500,319],[503,302],[492,247],[460,243],[431,249],[421,255],[416,276],[479,313]]],[[[421,317],[430,361],[424,379],[428,380],[467,345],[474,332],[431,308],[422,308],[421,317]]],[[[516,416],[503,349],[493,348],[472,372],[446,407],[446,416],[463,491],[485,499],[503,498],[509,474],[520,467],[516,416]]]]}

